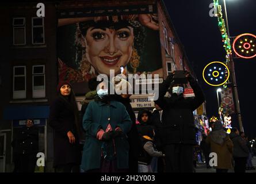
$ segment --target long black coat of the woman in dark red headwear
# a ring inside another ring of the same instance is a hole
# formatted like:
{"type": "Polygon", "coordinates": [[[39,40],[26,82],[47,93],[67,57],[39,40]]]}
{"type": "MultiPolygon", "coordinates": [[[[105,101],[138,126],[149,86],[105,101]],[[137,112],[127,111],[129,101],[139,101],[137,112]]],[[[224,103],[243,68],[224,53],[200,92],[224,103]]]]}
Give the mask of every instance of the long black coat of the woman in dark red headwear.
{"type": "Polygon", "coordinates": [[[54,167],[69,163],[81,164],[74,109],[63,97],[56,98],[50,106],[49,125],[54,129],[54,167]],[[73,144],[68,139],[68,131],[75,136],[73,144]]]}

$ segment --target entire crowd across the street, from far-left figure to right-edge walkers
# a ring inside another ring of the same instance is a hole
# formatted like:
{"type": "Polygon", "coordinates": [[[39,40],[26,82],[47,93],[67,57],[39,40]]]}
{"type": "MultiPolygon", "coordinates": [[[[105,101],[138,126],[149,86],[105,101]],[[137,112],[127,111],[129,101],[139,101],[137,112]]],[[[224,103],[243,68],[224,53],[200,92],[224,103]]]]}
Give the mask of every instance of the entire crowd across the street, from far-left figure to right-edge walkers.
{"type": "MultiPolygon", "coordinates": [[[[174,84],[172,73],[159,86],[155,109],[152,112],[140,110],[137,121],[130,95],[109,94],[111,88],[116,90],[116,86],[131,90],[125,79],[120,78],[119,85],[91,81],[91,91],[81,103],[81,116],[71,84],[60,82],[58,98],[51,104],[49,114],[49,125],[54,129],[55,172],[192,173],[198,152],[204,154],[207,168],[211,168],[209,154],[216,153],[217,164],[214,167],[217,173],[226,173],[232,167],[235,172],[255,169],[251,163],[253,150],[249,141],[244,133],[239,135],[236,128],[232,128],[228,135],[221,122],[217,121],[198,145],[193,111],[205,99],[189,72],[186,78],[194,91],[194,98],[184,98],[185,86],[174,84]],[[169,97],[166,93],[170,94],[169,97]]],[[[33,122],[28,120],[21,137],[13,144],[25,150],[21,147],[26,141],[32,145],[32,138],[38,141],[38,132],[33,128],[33,122]]],[[[30,146],[25,154],[14,147],[14,152],[20,155],[17,156],[19,167],[16,171],[33,172],[38,144],[33,143],[33,149],[30,146]],[[22,165],[29,167],[22,168],[22,165]]]]}

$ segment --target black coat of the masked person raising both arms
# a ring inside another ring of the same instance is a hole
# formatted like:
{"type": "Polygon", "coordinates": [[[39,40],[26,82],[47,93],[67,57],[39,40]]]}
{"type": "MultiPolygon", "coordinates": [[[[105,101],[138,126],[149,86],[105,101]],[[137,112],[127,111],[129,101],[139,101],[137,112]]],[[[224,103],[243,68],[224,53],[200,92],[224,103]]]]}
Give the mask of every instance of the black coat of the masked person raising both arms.
{"type": "Polygon", "coordinates": [[[204,102],[204,94],[193,78],[188,78],[194,91],[194,98],[184,98],[183,95],[172,94],[164,97],[173,82],[173,75],[167,76],[159,86],[159,98],[155,101],[163,109],[161,130],[164,144],[197,144],[193,111],[204,102]]]}

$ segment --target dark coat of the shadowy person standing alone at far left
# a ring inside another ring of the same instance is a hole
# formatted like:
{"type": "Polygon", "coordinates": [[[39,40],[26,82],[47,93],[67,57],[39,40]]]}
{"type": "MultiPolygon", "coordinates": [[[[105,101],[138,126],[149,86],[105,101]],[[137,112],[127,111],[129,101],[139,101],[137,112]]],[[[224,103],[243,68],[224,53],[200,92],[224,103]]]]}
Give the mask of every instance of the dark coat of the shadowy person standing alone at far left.
{"type": "Polygon", "coordinates": [[[13,141],[14,152],[17,154],[37,154],[39,132],[37,127],[22,127],[13,141]]]}

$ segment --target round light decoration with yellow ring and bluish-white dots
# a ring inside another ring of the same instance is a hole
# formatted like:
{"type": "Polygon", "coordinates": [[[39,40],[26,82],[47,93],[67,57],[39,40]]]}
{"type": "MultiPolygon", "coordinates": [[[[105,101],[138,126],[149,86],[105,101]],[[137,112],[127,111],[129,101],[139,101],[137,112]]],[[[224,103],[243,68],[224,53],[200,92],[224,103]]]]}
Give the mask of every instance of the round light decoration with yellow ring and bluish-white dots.
{"type": "Polygon", "coordinates": [[[204,67],[202,77],[208,85],[221,86],[228,81],[230,70],[224,63],[211,62],[204,67]]]}

